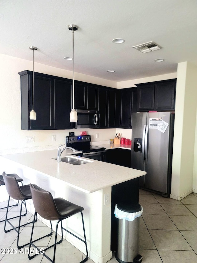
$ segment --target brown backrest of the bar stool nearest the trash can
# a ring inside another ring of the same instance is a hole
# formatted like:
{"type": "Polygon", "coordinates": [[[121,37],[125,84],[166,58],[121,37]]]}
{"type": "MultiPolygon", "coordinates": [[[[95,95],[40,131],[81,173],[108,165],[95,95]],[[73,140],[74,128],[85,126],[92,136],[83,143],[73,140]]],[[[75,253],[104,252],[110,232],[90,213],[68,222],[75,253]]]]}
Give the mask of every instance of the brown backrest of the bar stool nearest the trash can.
{"type": "Polygon", "coordinates": [[[30,190],[34,208],[40,216],[47,220],[59,220],[61,218],[50,192],[31,183],[30,190]]]}

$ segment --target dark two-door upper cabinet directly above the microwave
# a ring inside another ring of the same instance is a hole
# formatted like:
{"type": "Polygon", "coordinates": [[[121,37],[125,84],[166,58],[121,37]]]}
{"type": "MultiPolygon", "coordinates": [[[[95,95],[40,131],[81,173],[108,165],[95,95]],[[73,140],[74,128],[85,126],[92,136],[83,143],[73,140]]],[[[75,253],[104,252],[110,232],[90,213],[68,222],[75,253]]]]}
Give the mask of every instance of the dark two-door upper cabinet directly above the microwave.
{"type": "Polygon", "coordinates": [[[98,110],[98,87],[76,82],[74,91],[74,108],[98,110]]]}

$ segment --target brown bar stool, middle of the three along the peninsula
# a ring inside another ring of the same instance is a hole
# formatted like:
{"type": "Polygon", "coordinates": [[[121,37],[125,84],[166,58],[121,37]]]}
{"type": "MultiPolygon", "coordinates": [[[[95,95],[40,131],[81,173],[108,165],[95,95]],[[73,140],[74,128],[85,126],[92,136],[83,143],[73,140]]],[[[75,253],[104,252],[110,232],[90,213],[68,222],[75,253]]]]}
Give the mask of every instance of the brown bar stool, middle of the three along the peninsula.
{"type": "MultiPolygon", "coordinates": [[[[28,200],[28,199],[31,199],[30,186],[29,186],[29,184],[28,185],[19,186],[18,182],[17,182],[17,179],[14,176],[7,176],[5,172],[3,172],[3,180],[4,180],[4,183],[5,183],[8,195],[9,195],[7,212],[6,212],[6,219],[5,219],[5,225],[4,225],[4,231],[5,231],[5,233],[7,233],[7,232],[10,232],[11,230],[14,229],[16,232],[18,232],[17,247],[18,247],[18,249],[21,249],[24,246],[29,245],[29,243],[24,244],[22,246],[18,245],[20,227],[25,226],[27,224],[31,224],[31,223],[34,222],[34,221],[31,221],[31,222],[28,222],[26,224],[21,225],[22,204],[23,203],[25,204],[25,209],[26,209],[26,212],[27,212],[25,201],[28,200]],[[9,203],[10,203],[10,197],[15,199],[15,200],[21,200],[22,201],[21,209],[20,209],[20,215],[18,216],[19,217],[18,227],[14,227],[10,223],[9,220],[12,219],[12,218],[9,218],[9,219],[7,218],[7,216],[8,216],[8,208],[9,208],[9,203]],[[10,224],[10,226],[12,227],[11,229],[6,230],[6,222],[8,222],[10,224]]],[[[34,220],[37,221],[37,215],[36,215],[36,218],[34,217],[34,220]]],[[[51,234],[52,234],[52,232],[51,232],[51,234]]],[[[37,240],[34,240],[34,241],[37,241],[37,240]]]]}

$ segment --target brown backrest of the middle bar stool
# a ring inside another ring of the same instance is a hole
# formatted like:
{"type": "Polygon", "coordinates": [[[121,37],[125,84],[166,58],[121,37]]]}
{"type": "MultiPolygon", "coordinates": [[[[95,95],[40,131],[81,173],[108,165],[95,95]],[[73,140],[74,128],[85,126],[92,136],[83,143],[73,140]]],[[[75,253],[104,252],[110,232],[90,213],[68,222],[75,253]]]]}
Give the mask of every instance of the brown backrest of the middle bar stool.
{"type": "Polygon", "coordinates": [[[23,200],[24,195],[21,192],[17,179],[14,176],[7,176],[5,172],[2,175],[8,195],[15,200],[23,200]]]}

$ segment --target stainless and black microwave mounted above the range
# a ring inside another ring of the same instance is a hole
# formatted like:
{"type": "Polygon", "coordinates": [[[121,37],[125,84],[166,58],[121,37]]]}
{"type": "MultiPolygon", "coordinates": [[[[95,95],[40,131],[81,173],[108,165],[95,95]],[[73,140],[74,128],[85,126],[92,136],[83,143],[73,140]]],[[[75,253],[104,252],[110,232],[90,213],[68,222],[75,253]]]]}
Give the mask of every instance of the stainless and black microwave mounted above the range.
{"type": "Polygon", "coordinates": [[[99,112],[97,110],[76,109],[78,120],[75,128],[99,128],[99,112]]]}

